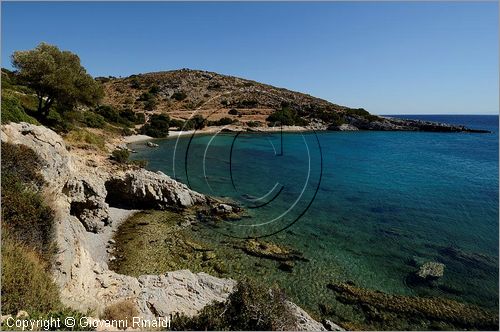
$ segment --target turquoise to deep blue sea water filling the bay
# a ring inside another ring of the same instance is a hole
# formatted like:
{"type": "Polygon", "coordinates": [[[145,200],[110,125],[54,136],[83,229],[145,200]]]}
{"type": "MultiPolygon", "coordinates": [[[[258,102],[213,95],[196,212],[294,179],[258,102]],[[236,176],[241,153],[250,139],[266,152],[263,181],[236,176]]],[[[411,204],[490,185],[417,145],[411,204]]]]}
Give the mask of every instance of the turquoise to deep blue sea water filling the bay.
{"type": "Polygon", "coordinates": [[[131,147],[149,169],[247,208],[200,236],[277,232],[264,240],[302,251],[310,261],[292,273],[260,277],[307,308],[327,300],[331,280],[497,308],[498,116],[405,117],[493,132],[223,133],[131,147]],[[408,277],[426,261],[446,265],[438,287],[408,277]]]}

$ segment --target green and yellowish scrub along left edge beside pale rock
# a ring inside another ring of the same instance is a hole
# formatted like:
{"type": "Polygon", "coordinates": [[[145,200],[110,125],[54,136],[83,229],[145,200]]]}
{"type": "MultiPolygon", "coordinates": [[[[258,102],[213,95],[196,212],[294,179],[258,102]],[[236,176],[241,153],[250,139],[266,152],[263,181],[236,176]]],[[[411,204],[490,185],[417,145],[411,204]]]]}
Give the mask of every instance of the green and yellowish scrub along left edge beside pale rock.
{"type": "Polygon", "coordinates": [[[54,216],[44,202],[36,153],[2,142],[2,312],[59,308],[50,275],[54,216]]]}

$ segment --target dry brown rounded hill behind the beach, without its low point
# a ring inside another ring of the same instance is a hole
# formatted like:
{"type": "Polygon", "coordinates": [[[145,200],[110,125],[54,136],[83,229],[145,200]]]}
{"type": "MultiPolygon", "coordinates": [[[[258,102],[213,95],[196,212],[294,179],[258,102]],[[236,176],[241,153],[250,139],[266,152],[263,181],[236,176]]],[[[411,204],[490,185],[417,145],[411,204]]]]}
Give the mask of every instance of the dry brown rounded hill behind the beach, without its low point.
{"type": "Polygon", "coordinates": [[[365,112],[304,93],[200,70],[181,69],[98,80],[104,84],[105,104],[166,113],[174,119],[188,119],[196,111],[205,117],[210,115],[210,120],[229,117],[243,125],[250,121],[264,125],[273,112],[286,107],[296,116],[293,122],[305,124],[299,118],[308,122],[314,118],[328,124],[344,114],[365,112]]]}

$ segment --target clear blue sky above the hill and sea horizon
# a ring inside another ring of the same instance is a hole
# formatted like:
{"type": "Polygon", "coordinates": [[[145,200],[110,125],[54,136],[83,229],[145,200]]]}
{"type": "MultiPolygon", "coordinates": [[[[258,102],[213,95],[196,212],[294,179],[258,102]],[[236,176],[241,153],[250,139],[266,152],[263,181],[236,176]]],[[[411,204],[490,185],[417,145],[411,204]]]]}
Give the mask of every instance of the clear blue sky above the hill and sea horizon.
{"type": "Polygon", "coordinates": [[[2,66],[41,41],[94,76],[204,69],[377,114],[498,113],[495,2],[2,2],[2,66]]]}

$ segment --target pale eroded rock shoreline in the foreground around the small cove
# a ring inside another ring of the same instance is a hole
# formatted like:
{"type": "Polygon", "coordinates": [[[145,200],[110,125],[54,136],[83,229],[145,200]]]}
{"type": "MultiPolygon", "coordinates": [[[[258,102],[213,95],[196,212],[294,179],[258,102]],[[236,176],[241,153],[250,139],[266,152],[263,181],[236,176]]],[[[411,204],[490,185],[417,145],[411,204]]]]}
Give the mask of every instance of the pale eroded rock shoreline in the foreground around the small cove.
{"type": "MultiPolygon", "coordinates": [[[[103,253],[116,226],[141,209],[184,209],[214,204],[161,172],[86,160],[69,151],[61,136],[43,126],[11,123],[2,126],[2,142],[33,149],[44,167],[46,197],[55,212],[58,251],[53,275],[62,302],[100,316],[104,309],[131,300],[143,318],[196,314],[212,301],[224,301],[235,287],[232,279],[172,271],[138,278],[108,267],[103,253]]],[[[296,305],[297,330],[324,330],[296,305]]]]}

